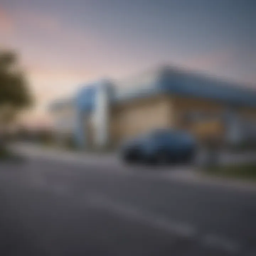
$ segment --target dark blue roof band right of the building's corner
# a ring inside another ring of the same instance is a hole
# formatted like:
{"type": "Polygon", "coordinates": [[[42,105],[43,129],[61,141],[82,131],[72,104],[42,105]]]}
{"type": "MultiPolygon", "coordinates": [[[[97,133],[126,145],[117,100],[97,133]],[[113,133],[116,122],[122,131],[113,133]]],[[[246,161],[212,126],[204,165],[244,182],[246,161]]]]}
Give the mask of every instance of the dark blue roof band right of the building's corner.
{"type": "Polygon", "coordinates": [[[230,105],[256,107],[256,90],[244,84],[181,69],[163,69],[159,86],[171,94],[221,101],[230,105]]]}

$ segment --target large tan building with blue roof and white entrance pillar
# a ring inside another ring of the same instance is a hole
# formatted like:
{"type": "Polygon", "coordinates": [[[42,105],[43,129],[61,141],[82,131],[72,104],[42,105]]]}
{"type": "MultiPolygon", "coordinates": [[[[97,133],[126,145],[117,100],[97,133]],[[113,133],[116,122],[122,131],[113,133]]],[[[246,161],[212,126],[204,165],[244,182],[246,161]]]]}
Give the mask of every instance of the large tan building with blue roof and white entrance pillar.
{"type": "Polygon", "coordinates": [[[56,138],[81,147],[114,146],[158,128],[189,130],[199,140],[256,140],[256,91],[173,67],[84,84],[49,112],[56,138]]]}

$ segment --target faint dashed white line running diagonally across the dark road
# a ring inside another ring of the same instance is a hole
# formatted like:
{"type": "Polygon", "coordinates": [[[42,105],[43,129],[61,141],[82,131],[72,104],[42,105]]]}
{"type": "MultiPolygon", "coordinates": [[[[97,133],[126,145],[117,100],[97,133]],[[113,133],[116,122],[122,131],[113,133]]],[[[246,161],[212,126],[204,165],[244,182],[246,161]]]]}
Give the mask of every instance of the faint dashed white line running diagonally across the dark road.
{"type": "MultiPolygon", "coordinates": [[[[51,191],[57,196],[65,198],[73,198],[73,193],[65,184],[59,183],[51,186],[44,184],[44,190],[51,191]]],[[[233,241],[218,234],[201,234],[199,230],[188,223],[180,222],[176,219],[171,219],[160,214],[150,213],[148,210],[140,209],[129,204],[114,201],[106,196],[89,192],[89,196],[74,199],[77,203],[89,208],[97,208],[106,210],[107,212],[118,215],[121,218],[133,220],[137,223],[150,226],[151,228],[176,235],[179,238],[191,239],[201,246],[228,252],[230,255],[240,255],[242,246],[239,242],[233,241]]],[[[245,255],[245,254],[243,254],[245,255]]],[[[256,256],[255,252],[250,252],[246,256],[256,256]]]]}

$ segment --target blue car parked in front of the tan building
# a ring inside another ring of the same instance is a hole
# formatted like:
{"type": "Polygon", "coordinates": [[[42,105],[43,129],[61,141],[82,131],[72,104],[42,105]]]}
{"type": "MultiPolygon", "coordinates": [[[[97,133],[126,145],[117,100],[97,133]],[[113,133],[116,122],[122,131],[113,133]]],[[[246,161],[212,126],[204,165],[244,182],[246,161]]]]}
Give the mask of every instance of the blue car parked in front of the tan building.
{"type": "Polygon", "coordinates": [[[126,162],[154,164],[192,162],[196,155],[195,138],[181,130],[158,129],[125,142],[120,149],[126,162]]]}

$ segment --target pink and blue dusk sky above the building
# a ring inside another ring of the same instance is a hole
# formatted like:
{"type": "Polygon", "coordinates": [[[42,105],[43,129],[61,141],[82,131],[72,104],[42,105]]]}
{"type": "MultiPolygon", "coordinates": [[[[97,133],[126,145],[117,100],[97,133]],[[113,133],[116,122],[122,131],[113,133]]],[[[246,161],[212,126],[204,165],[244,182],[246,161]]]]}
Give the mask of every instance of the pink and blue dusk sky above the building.
{"type": "Polygon", "coordinates": [[[161,64],[256,88],[255,0],[0,0],[0,47],[15,49],[37,107],[81,83],[161,64]]]}

